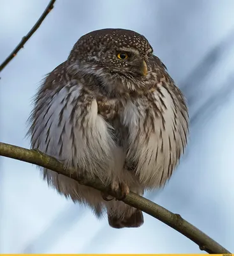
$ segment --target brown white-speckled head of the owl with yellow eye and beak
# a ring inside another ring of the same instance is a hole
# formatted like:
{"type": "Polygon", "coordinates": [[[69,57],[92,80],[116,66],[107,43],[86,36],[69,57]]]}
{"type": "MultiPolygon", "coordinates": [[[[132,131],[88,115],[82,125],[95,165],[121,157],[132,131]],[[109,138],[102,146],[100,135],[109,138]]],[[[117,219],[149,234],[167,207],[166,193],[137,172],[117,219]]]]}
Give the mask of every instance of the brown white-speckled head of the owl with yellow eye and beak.
{"type": "Polygon", "coordinates": [[[127,29],[101,29],[82,36],[68,61],[100,77],[147,76],[153,49],[147,39],[127,29]]]}

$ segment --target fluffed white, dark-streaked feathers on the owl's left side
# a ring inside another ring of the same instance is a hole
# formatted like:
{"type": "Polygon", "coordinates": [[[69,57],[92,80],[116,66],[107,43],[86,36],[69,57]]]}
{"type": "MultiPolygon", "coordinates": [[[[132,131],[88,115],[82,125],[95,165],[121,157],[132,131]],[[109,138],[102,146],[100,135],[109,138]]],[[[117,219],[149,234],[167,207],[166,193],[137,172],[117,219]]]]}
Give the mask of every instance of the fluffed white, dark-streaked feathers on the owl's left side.
{"type": "Polygon", "coordinates": [[[113,160],[110,125],[98,115],[94,95],[70,79],[66,63],[52,71],[36,95],[31,114],[31,147],[92,177],[108,176],[113,160]]]}

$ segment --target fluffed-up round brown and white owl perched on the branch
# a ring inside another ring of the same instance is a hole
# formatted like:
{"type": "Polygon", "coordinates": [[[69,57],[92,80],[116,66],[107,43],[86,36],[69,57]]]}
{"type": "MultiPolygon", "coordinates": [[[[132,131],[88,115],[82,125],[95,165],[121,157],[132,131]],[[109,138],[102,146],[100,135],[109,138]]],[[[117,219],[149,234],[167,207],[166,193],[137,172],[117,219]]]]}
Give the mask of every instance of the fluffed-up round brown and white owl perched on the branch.
{"type": "Polygon", "coordinates": [[[121,200],[161,188],[184,153],[188,134],[184,96],[148,40],[127,29],[82,36],[68,59],[44,79],[29,117],[31,148],[55,157],[77,175],[119,196],[42,169],[49,186],[113,228],[140,227],[143,214],[121,200]]]}

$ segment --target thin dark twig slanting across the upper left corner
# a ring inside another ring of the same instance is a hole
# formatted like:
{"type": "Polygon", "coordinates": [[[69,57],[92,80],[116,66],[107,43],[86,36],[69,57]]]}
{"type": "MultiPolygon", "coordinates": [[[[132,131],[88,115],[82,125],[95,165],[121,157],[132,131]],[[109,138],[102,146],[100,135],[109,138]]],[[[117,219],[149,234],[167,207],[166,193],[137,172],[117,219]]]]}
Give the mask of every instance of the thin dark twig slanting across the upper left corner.
{"type": "Polygon", "coordinates": [[[20,49],[24,48],[24,44],[26,44],[27,40],[29,40],[29,38],[31,38],[31,36],[34,34],[34,32],[40,27],[40,25],[43,22],[43,20],[45,19],[45,17],[47,17],[48,13],[54,8],[55,1],[56,0],[51,0],[50,3],[48,3],[47,8],[45,8],[45,11],[41,14],[41,17],[36,22],[36,24],[33,26],[33,28],[29,31],[29,33],[27,33],[26,36],[24,36],[22,38],[20,43],[17,45],[17,47],[15,47],[15,49],[13,50],[13,52],[11,52],[11,54],[8,56],[8,58],[6,58],[6,60],[3,61],[3,63],[0,66],[0,72],[16,56],[18,51],[20,51],[20,49]]]}

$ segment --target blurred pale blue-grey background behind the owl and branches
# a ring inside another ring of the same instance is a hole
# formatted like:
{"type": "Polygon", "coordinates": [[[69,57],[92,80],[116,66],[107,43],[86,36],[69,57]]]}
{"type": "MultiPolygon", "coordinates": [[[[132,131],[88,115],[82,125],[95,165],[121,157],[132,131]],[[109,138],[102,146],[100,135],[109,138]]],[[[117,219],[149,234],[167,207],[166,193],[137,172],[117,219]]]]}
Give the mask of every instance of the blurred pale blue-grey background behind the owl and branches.
{"type": "MultiPolygon", "coordinates": [[[[48,0],[0,0],[0,62],[48,0]]],[[[234,252],[234,1],[70,0],[55,2],[24,49],[1,72],[0,141],[29,148],[26,120],[40,80],[68,57],[80,36],[101,28],[145,35],[187,97],[186,155],[165,189],[146,196],[179,213],[234,252]]],[[[0,157],[0,253],[200,253],[145,214],[115,230],[66,200],[36,166],[0,157]]]]}

